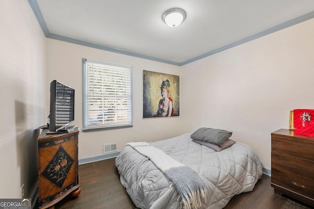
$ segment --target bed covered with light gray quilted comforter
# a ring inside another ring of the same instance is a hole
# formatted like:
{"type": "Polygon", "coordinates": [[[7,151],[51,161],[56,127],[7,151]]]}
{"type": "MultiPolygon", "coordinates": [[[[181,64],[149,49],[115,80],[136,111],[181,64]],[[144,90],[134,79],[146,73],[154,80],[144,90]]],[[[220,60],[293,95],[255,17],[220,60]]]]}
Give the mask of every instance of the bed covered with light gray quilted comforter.
{"type": "MultiPolygon", "coordinates": [[[[258,156],[243,143],[236,142],[217,152],[195,143],[191,133],[186,133],[149,145],[188,166],[203,180],[206,197],[201,197],[197,207],[200,209],[224,208],[234,195],[252,191],[262,176],[258,156]]],[[[127,145],[116,158],[121,184],[134,205],[141,209],[193,208],[182,207],[182,196],[176,186],[154,163],[127,145]]]]}

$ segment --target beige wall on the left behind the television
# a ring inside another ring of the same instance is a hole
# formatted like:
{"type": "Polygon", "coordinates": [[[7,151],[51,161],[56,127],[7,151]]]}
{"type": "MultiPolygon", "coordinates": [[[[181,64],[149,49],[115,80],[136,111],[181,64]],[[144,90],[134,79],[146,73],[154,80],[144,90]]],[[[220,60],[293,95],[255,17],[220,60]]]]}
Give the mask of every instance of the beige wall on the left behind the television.
{"type": "Polygon", "coordinates": [[[0,1],[0,198],[30,198],[46,123],[46,38],[27,1],[0,1]]]}

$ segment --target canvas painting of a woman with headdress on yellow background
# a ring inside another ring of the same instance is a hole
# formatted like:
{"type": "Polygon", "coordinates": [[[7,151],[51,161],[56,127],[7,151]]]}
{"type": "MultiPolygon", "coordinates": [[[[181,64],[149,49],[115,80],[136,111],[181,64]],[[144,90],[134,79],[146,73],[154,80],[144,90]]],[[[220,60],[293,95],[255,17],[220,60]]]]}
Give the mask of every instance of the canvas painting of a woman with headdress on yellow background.
{"type": "Polygon", "coordinates": [[[143,70],[143,118],[180,115],[178,75],[143,70]]]}

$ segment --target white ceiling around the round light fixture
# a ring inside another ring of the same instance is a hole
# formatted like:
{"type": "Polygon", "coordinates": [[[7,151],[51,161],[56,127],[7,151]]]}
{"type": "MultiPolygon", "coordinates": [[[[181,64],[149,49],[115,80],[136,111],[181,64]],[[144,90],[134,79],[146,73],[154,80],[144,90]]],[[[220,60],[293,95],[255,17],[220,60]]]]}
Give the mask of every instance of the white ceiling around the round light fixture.
{"type": "Polygon", "coordinates": [[[28,0],[45,35],[184,65],[314,18],[314,0],[28,0]],[[161,19],[179,7],[176,28],[161,19]]]}

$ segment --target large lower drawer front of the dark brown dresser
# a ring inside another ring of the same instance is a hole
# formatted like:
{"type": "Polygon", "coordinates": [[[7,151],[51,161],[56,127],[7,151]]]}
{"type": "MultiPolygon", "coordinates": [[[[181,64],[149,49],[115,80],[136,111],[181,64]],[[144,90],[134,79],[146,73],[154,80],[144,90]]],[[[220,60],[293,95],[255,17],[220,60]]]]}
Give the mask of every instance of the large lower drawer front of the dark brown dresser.
{"type": "Polygon", "coordinates": [[[272,153],[271,183],[314,199],[314,162],[272,153]]]}

